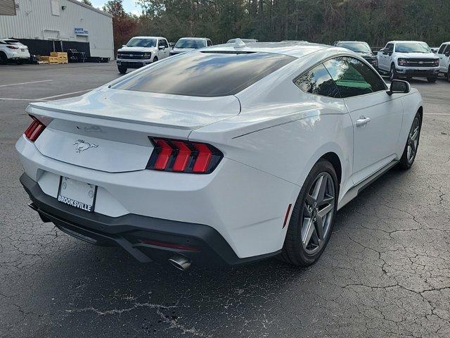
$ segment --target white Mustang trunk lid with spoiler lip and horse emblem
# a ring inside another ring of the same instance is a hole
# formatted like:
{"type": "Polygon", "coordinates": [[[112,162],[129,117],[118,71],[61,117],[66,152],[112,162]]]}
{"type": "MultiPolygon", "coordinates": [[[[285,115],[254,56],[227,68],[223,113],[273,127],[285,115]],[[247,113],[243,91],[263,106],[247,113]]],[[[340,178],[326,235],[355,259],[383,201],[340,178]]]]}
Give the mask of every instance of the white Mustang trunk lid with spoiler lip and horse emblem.
{"type": "Polygon", "coordinates": [[[44,156],[120,173],[146,168],[149,136],[188,139],[192,130],[240,113],[235,96],[194,97],[97,89],[83,96],[30,104],[47,127],[35,142],[44,156]]]}

